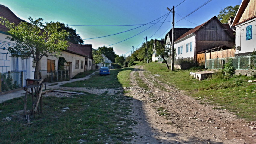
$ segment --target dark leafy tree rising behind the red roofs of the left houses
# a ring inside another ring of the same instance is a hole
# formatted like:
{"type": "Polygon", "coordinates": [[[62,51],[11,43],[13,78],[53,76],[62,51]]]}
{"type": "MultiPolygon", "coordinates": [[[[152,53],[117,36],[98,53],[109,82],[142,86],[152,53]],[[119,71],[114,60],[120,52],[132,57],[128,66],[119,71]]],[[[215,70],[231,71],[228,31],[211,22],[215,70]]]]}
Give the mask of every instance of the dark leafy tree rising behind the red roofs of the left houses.
{"type": "Polygon", "coordinates": [[[60,26],[60,28],[58,28],[59,32],[61,32],[62,30],[65,30],[69,34],[65,36],[65,39],[67,41],[70,41],[73,44],[83,44],[84,41],[82,40],[80,35],[76,33],[75,29],[69,27],[68,25],[65,26],[64,23],[56,22],[56,24],[60,26]]]}

